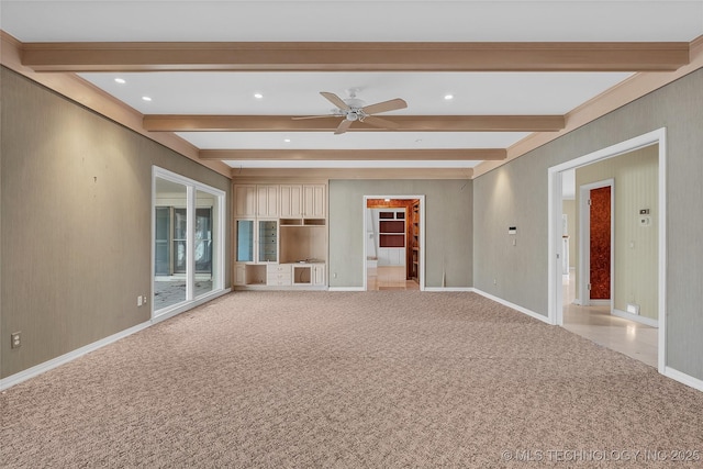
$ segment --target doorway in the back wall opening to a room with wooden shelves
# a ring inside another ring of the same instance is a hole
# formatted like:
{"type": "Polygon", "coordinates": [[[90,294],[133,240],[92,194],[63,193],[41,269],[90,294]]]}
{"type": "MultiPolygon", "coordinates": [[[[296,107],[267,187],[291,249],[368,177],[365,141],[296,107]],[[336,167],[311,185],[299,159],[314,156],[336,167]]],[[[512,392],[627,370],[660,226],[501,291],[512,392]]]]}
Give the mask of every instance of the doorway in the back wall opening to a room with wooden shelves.
{"type": "Polygon", "coordinates": [[[365,196],[364,289],[424,290],[424,197],[365,196]]]}

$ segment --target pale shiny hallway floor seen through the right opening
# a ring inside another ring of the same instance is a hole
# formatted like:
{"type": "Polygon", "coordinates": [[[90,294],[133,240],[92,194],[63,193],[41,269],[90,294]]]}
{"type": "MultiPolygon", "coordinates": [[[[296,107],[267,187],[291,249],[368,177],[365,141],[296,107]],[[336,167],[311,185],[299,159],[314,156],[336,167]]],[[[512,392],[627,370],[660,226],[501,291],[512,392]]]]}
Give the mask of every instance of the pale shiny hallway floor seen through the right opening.
{"type": "Polygon", "coordinates": [[[563,279],[563,328],[595,344],[657,367],[658,330],[610,314],[610,306],[579,306],[574,270],[563,279]]]}

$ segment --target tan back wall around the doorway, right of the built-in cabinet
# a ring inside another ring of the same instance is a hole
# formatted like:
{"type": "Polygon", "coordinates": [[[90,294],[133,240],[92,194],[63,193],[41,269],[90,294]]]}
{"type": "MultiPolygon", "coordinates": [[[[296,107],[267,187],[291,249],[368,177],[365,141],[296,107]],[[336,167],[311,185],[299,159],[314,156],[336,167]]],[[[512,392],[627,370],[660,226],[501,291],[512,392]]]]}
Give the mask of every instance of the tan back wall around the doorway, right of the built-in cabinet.
{"type": "Polygon", "coordinates": [[[471,193],[460,179],[331,180],[330,287],[364,286],[364,196],[425,196],[425,286],[471,287],[471,193]]]}

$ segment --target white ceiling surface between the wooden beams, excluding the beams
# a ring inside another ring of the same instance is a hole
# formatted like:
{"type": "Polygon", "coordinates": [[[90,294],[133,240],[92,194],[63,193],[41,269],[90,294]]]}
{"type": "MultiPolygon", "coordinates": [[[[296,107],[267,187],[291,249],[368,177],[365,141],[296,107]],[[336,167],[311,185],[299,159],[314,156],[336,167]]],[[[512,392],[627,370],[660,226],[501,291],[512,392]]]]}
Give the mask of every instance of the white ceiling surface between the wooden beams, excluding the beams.
{"type": "MultiPolygon", "coordinates": [[[[703,34],[691,1],[0,1],[0,26],[22,42],[690,42],[703,34]]],[[[627,72],[90,72],[143,114],[327,114],[320,91],[367,103],[403,98],[381,114],[566,114],[627,72]],[[118,85],[114,78],[125,80],[118,85]],[[254,93],[264,98],[256,99],[254,93]],[[454,94],[446,101],[444,96],[454,94]],[[148,96],[152,101],[142,99],[148,96]]],[[[201,149],[506,148],[522,132],[182,132],[201,149]],[[290,142],[286,142],[290,139],[290,142]]],[[[280,161],[226,161],[283,167],[280,161]]],[[[290,161],[286,167],[471,167],[478,161],[290,161]]]]}

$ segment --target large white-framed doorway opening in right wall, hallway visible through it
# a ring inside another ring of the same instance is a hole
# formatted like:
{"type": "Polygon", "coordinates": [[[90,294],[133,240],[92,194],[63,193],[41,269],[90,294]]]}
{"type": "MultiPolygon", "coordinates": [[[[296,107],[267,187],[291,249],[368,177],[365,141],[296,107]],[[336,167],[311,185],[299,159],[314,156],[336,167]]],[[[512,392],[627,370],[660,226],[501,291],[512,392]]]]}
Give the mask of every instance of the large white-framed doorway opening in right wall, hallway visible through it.
{"type": "Polygon", "coordinates": [[[548,170],[549,322],[656,366],[662,373],[666,364],[665,137],[666,132],[660,129],[548,170]],[[578,199],[573,206],[579,214],[565,216],[569,212],[569,201],[563,196],[563,188],[569,185],[566,175],[574,171],[579,181],[571,182],[578,199]],[[614,180],[607,181],[611,177],[614,180]],[[610,291],[592,297],[590,238],[593,235],[590,226],[589,230],[584,226],[590,225],[591,219],[580,214],[590,209],[583,200],[590,198],[591,190],[603,187],[611,191],[610,213],[602,210],[599,216],[612,223],[610,234],[596,236],[611,239],[610,252],[601,253],[602,257],[610,258],[610,266],[602,263],[607,266],[602,270],[610,272],[610,278],[601,272],[598,281],[610,286],[606,288],[610,291]],[[568,234],[567,219],[572,220],[568,234]],[[566,259],[571,263],[565,263],[566,259]]]}

